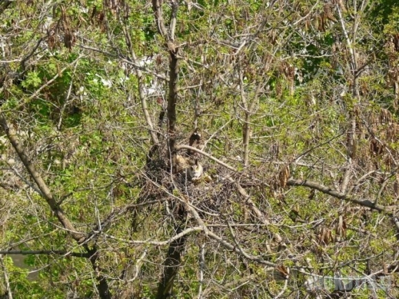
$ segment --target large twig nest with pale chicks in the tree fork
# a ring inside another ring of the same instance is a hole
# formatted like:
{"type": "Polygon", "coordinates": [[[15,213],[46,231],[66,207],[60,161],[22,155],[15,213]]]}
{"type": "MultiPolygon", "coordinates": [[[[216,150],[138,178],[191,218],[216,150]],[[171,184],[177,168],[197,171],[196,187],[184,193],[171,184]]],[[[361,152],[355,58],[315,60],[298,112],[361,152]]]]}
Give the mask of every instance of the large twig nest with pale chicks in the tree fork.
{"type": "Polygon", "coordinates": [[[147,160],[139,203],[159,201],[164,205],[162,210],[171,214],[188,203],[202,219],[211,222],[234,212],[239,198],[235,186],[224,179],[230,175],[229,170],[198,155],[165,157],[166,151],[162,150],[147,160]],[[200,172],[193,175],[199,168],[200,172]]]}

